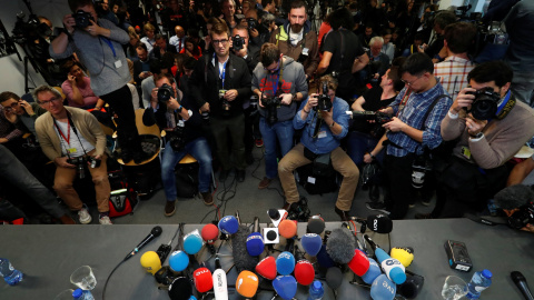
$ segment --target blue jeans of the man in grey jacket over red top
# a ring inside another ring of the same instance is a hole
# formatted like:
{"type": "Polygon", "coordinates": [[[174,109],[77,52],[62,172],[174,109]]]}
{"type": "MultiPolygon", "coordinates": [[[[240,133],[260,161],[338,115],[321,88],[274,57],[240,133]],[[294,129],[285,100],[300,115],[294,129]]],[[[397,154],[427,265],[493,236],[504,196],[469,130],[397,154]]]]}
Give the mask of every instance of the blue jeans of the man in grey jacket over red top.
{"type": "Polygon", "coordinates": [[[268,179],[276,178],[278,163],[276,161],[276,140],[280,144],[281,156],[286,156],[293,148],[293,120],[276,122],[269,126],[264,117],[259,118],[259,131],[265,146],[265,176],[268,179]]]}

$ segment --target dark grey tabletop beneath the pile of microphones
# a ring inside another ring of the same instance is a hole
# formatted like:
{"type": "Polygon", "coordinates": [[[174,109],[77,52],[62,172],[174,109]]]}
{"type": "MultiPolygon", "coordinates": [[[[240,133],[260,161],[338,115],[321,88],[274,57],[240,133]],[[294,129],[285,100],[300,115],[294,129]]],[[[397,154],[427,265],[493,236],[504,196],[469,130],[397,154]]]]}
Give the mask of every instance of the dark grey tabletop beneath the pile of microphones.
{"type": "MultiPolygon", "coordinates": [[[[337,222],[328,222],[327,229],[339,226],[337,222]]],[[[86,264],[93,269],[97,279],[93,296],[101,299],[103,283],[111,270],[147,237],[152,227],[3,226],[0,230],[0,257],[8,258],[26,277],[14,287],[1,281],[0,299],[53,299],[62,290],[75,288],[70,283],[70,274],[76,268],[86,264]]],[[[202,224],[187,224],[185,232],[201,227],[202,224]]],[[[139,263],[145,251],[155,251],[159,244],[167,243],[178,226],[166,224],[161,228],[159,238],[122,263],[112,274],[106,299],[169,299],[167,291],[159,290],[152,276],[139,263]]],[[[298,234],[301,236],[305,231],[306,223],[299,223],[298,234]]],[[[388,250],[387,234],[370,232],[369,236],[388,250]]],[[[390,242],[394,247],[414,248],[415,260],[408,269],[425,277],[424,288],[417,299],[442,299],[442,286],[447,276],[457,276],[468,282],[473,273],[482,269],[493,272],[493,284],[482,293],[483,299],[523,299],[510,278],[511,271],[521,271],[527,281],[534,282],[534,234],[505,226],[488,227],[467,219],[394,221],[390,242]],[[474,264],[471,272],[448,267],[444,250],[447,239],[466,243],[474,264]]],[[[176,243],[175,239],[172,247],[176,243]]],[[[224,269],[229,269],[233,264],[228,244],[224,244],[220,250],[224,269]]],[[[197,259],[206,260],[212,270],[214,259],[208,251],[201,250],[197,259]]],[[[237,273],[233,269],[228,273],[228,284],[234,284],[236,278],[237,273]]],[[[348,271],[337,291],[337,299],[370,299],[368,289],[350,284],[352,280],[353,273],[348,271]]],[[[333,291],[326,283],[324,286],[323,299],[334,299],[333,291]]],[[[307,299],[307,287],[299,286],[296,299],[307,299]]],[[[239,299],[233,289],[230,291],[230,299],[239,299]]],[[[273,296],[274,292],[265,290],[258,293],[257,299],[271,299],[273,296]]],[[[207,299],[211,298],[212,296],[207,299]]]]}

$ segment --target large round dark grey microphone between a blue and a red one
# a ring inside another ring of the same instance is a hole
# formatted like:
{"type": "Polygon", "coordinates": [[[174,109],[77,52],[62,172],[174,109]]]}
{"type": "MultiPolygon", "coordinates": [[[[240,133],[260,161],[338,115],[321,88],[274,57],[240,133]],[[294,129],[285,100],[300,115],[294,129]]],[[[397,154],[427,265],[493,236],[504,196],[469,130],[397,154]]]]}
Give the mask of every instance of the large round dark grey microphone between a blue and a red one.
{"type": "Polygon", "coordinates": [[[326,242],[326,251],[337,263],[348,263],[354,257],[356,242],[353,233],[346,228],[336,228],[326,242]]]}

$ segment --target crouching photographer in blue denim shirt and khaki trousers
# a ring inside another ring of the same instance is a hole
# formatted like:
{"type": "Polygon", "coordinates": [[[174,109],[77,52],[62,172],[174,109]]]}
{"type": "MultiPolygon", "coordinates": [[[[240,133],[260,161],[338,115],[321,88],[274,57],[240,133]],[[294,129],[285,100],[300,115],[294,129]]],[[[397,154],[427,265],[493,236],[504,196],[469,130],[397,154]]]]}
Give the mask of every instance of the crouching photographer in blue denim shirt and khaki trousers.
{"type": "MultiPolygon", "coordinates": [[[[300,104],[300,109],[293,119],[295,129],[304,129],[300,143],[295,146],[278,163],[278,174],[281,187],[286,196],[284,209],[288,209],[291,203],[299,201],[297,184],[293,171],[298,167],[314,162],[315,158],[322,154],[329,154],[332,167],[343,176],[339,196],[337,198],[336,213],[343,221],[349,220],[348,212],[354,200],[354,192],[358,186],[359,170],[353,160],[339,147],[340,140],[348,132],[348,104],[345,100],[336,97],[337,80],[332,76],[324,76],[320,82],[326,83],[328,92],[326,101],[330,101],[332,108],[327,108],[327,102],[319,106],[319,96],[313,93],[300,104]],[[319,119],[319,120],[318,120],[319,119]],[[316,130],[317,124],[319,127],[316,130]],[[317,132],[317,134],[314,134],[317,132]]],[[[323,84],[320,89],[323,91],[323,84]]],[[[323,98],[323,97],[320,97],[323,98]]]]}

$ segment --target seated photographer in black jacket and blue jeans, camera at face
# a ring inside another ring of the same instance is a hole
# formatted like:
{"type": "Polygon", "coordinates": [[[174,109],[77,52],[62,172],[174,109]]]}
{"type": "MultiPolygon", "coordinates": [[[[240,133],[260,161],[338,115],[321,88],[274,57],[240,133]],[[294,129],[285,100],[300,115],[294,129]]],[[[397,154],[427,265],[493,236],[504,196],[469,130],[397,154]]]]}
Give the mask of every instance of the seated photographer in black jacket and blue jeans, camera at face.
{"type": "Polygon", "coordinates": [[[211,150],[202,136],[202,120],[198,107],[187,97],[180,99],[181,92],[178,92],[171,74],[162,73],[155,80],[157,90],[152,91],[151,97],[152,101],[159,102],[155,109],[156,120],[158,126],[167,131],[167,143],[161,159],[161,180],[167,198],[165,216],[170,217],[176,212],[175,167],[186,154],[198,161],[198,190],[204,203],[211,206],[211,150]]]}

